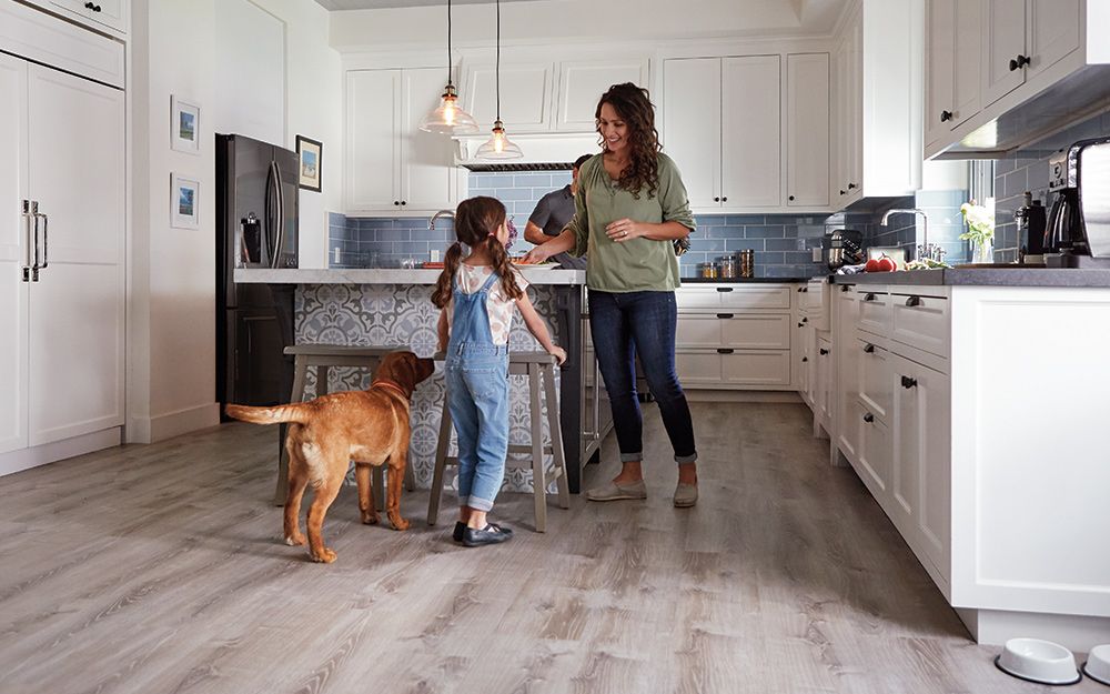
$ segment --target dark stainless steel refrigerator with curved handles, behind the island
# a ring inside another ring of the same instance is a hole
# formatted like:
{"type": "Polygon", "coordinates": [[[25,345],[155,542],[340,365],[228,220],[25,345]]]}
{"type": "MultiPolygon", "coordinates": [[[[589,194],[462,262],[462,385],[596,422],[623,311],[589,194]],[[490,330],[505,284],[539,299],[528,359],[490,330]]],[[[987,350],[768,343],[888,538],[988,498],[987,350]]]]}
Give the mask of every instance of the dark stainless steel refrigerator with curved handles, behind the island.
{"type": "Polygon", "coordinates": [[[216,401],[284,402],[287,312],[266,284],[235,284],[236,268],[296,268],[297,159],[243,135],[218,134],[216,401]]]}

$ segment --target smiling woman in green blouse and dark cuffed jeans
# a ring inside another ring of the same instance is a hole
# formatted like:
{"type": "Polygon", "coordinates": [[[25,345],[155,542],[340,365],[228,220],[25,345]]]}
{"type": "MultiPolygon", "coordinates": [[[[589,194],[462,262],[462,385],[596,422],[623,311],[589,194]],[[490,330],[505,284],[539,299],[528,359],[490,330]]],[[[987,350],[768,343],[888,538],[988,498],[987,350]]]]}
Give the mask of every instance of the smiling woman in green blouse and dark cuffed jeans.
{"type": "Polygon", "coordinates": [[[591,501],[645,499],[643,415],[636,398],[639,355],[678,463],[675,505],[697,502],[697,452],[689,405],[675,373],[674,242],[695,229],[678,168],[659,150],[647,90],[614,84],[594,117],[602,153],[582,164],[575,214],[529,262],[562,251],[588,253],[589,329],[613,408],[620,474],[586,492],[591,501]]]}

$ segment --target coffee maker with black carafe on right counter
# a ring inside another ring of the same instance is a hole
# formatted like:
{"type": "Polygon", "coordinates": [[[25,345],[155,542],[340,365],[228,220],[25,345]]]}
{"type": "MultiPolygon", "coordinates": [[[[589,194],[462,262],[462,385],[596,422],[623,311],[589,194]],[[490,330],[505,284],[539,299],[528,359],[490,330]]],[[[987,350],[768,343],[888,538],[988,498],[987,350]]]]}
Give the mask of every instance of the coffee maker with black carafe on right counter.
{"type": "Polygon", "coordinates": [[[1110,138],[1080,140],[1049,159],[1056,193],[1045,228],[1049,268],[1110,268],[1110,138]]]}

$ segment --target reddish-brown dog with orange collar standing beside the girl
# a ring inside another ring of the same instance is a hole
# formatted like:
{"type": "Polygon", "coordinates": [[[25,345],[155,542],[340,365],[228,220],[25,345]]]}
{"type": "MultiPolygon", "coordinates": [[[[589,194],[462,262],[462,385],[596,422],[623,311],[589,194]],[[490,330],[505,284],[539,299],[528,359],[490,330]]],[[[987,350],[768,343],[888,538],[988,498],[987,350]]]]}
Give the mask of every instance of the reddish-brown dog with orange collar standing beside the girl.
{"type": "Polygon", "coordinates": [[[324,514],[343,485],[350,461],[355,462],[359,509],[363,523],[377,523],[370,466],[389,464],[385,512],[396,530],[401,517],[401,484],[408,461],[408,401],[416,384],[432,375],[435,363],[412,352],[386,354],[370,390],[331,393],[309,402],[274,408],[228,405],[229,416],[256,424],[289,422],[289,496],[285,499],[285,542],[304,544],[297,526],[304,487],[316,491],[309,507],[309,550],[313,561],[331,563],[335,552],[324,546],[324,514]]]}

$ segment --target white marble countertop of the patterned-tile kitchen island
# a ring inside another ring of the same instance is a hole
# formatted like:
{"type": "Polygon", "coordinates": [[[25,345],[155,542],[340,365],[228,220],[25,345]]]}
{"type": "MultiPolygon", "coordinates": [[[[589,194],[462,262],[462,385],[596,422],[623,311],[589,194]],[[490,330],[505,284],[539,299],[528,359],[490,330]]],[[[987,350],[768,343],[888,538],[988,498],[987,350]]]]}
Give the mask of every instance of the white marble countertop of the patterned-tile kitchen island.
{"type": "MultiPolygon", "coordinates": [[[[585,270],[522,268],[532,284],[585,284],[585,270]]],[[[240,284],[435,284],[440,270],[341,270],[341,269],[235,269],[240,284]]]]}

